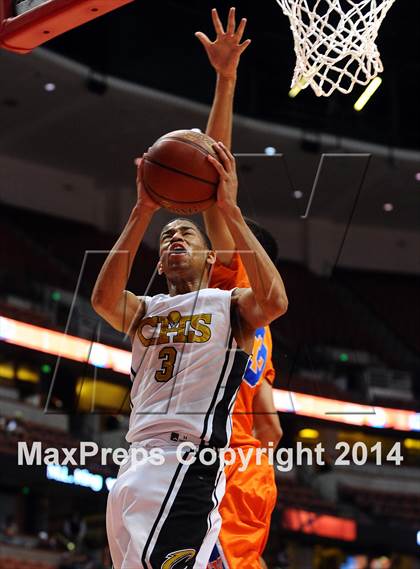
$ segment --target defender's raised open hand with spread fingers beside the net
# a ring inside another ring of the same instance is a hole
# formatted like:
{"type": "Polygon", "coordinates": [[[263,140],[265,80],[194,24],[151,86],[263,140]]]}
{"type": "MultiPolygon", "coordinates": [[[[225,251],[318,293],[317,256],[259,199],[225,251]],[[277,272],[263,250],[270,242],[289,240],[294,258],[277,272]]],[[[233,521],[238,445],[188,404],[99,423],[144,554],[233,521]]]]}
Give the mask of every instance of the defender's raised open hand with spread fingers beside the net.
{"type": "Polygon", "coordinates": [[[231,8],[225,31],[216,8],[213,8],[211,11],[211,16],[216,32],[215,41],[210,41],[203,32],[196,32],[195,35],[203,44],[210,63],[214,67],[215,71],[223,77],[235,78],[239,59],[251,43],[251,40],[245,40],[240,43],[245,30],[246,19],[242,18],[239,26],[236,28],[235,8],[231,8]]]}

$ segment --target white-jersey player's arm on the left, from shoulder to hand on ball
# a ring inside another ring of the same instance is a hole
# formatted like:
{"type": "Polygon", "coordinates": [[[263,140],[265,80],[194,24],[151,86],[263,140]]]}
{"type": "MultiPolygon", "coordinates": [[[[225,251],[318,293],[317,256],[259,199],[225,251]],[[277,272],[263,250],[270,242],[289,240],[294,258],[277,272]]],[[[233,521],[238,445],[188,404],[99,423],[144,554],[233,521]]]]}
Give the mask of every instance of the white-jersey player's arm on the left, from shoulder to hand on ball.
{"type": "Polygon", "coordinates": [[[109,252],[96,279],[92,307],[113,328],[130,333],[132,323],[141,317],[143,302],[126,290],[134,258],[147,227],[159,206],[149,197],[137,170],[137,203],[118,241],[109,252]]]}

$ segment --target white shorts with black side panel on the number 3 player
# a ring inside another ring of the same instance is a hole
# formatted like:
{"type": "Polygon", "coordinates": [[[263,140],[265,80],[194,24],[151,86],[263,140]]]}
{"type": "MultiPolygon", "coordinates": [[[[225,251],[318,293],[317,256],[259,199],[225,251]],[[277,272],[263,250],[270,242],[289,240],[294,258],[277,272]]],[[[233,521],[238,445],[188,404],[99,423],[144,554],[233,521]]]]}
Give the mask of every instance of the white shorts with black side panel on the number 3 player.
{"type": "MultiPolygon", "coordinates": [[[[182,464],[179,443],[134,443],[108,496],[106,525],[114,569],[205,569],[221,527],[220,459],[182,464]],[[163,449],[164,464],[136,461],[136,447],[163,449]]],[[[195,450],[182,454],[187,461],[195,450]]]]}

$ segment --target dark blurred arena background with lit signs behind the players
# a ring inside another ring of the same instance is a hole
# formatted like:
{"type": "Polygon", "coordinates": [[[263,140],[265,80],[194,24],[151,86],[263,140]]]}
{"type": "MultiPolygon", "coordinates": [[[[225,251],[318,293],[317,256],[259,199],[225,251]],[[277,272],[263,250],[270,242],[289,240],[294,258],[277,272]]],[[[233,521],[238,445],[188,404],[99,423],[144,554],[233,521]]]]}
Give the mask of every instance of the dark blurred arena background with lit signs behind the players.
{"type": "MultiPolygon", "coordinates": [[[[230,5],[136,0],[31,53],[0,50],[1,569],[111,567],[118,468],[82,465],[80,444],[126,446],[130,343],[89,299],[135,203],[134,159],[166,132],[205,130],[214,72],[194,32],[213,37],[211,8],[225,20],[230,5]],[[19,465],[18,442],[37,441],[77,449],[77,465],[63,451],[19,465]]],[[[252,39],[235,99],[240,206],[275,236],[290,303],[271,329],[294,454],[279,456],[266,562],[418,569],[420,5],[397,0],[384,20],[383,82],[360,112],[361,86],[290,97],[287,18],[275,0],[236,8],[252,39]],[[324,464],[298,464],[320,444],[324,464]]],[[[164,290],[153,275],[172,217],[161,210],[141,246],[139,295],[164,290]]]]}

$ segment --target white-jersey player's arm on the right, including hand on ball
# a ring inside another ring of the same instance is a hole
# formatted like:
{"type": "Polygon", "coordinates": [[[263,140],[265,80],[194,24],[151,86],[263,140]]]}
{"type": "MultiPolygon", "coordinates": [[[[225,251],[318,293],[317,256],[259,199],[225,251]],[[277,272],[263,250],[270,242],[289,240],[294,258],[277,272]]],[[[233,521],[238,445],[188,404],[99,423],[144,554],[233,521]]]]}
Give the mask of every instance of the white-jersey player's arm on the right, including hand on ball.
{"type": "Polygon", "coordinates": [[[241,320],[255,330],[286,312],[286,290],[279,272],[249,229],[237,204],[238,179],[234,156],[221,143],[213,146],[219,160],[211,155],[207,159],[220,176],[216,205],[241,255],[251,287],[242,289],[235,302],[241,320]]]}

